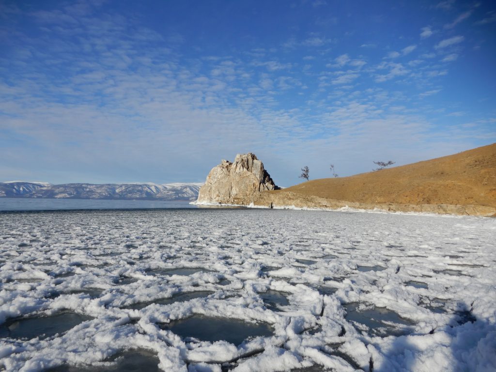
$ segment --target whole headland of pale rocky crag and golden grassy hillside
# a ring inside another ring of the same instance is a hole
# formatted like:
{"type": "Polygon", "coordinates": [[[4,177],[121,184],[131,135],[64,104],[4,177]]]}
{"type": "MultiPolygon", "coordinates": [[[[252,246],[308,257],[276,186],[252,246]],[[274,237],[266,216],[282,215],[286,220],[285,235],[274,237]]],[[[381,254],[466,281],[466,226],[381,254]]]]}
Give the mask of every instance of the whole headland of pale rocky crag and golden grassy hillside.
{"type": "Polygon", "coordinates": [[[343,208],[496,217],[496,144],[393,169],[279,189],[252,154],[222,160],[199,205],[343,208]]]}

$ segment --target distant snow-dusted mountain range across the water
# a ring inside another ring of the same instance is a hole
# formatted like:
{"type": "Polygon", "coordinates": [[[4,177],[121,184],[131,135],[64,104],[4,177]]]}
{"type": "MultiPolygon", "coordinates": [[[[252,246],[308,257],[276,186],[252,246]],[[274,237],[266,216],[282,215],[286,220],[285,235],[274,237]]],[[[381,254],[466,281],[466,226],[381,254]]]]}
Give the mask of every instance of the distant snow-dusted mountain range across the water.
{"type": "Polygon", "coordinates": [[[62,184],[0,182],[0,197],[196,200],[203,184],[62,184]]]}

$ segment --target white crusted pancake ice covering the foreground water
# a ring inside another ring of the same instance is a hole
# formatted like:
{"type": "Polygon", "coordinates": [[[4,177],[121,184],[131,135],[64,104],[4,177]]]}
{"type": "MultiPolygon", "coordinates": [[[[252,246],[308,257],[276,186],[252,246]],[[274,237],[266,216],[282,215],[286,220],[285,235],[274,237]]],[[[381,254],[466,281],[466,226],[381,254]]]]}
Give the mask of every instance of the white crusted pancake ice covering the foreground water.
{"type": "Polygon", "coordinates": [[[494,370],[495,236],[496,220],[476,217],[261,209],[3,213],[0,322],[68,310],[93,319],[45,339],[1,338],[0,366],[99,366],[122,351],[147,349],[164,371],[220,371],[223,363],[233,371],[494,370]],[[167,273],[177,268],[203,271],[167,273]],[[319,292],[323,287],[335,291],[319,292]],[[260,297],[268,290],[289,304],[268,309],[260,297]],[[211,294],[129,308],[196,291],[211,294]],[[409,325],[386,322],[404,327],[404,335],[375,336],[345,318],[349,303],[386,308],[409,325]],[[192,314],[266,322],[273,335],[239,346],[186,343],[161,328],[192,314]]]}

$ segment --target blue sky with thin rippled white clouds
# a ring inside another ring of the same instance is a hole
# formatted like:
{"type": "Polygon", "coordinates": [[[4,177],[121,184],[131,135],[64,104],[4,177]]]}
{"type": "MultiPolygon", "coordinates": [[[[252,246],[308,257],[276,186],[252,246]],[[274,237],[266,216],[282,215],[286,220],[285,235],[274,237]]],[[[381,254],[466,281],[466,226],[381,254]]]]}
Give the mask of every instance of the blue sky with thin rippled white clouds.
{"type": "Polygon", "coordinates": [[[278,185],[496,141],[492,1],[1,1],[0,181],[278,185]]]}

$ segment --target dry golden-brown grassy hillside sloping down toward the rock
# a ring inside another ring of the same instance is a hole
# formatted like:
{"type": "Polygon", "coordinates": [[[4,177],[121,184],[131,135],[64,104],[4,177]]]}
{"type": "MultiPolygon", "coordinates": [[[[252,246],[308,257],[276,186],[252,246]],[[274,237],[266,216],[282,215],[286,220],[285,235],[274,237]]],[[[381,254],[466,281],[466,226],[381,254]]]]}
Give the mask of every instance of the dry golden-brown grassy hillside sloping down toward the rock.
{"type": "Polygon", "coordinates": [[[496,207],[496,143],[401,167],[313,180],[270,192],[294,192],[367,204],[496,207]]]}

